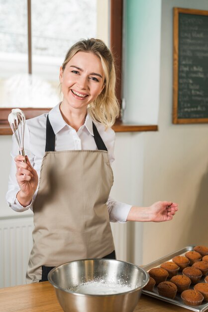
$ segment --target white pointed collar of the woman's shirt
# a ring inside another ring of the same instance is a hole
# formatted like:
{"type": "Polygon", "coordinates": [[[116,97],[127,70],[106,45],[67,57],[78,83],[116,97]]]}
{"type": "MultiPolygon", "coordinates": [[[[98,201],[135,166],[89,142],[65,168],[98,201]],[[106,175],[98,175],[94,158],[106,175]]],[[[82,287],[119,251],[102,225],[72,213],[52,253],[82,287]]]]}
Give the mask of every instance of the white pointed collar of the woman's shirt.
{"type": "MultiPolygon", "coordinates": [[[[52,110],[50,110],[48,116],[49,116],[49,120],[51,123],[51,126],[53,128],[54,134],[56,135],[60,130],[62,130],[64,127],[70,127],[63,119],[61,112],[60,112],[60,106],[61,103],[59,103],[58,105],[56,105],[54,108],[52,108],[52,110]]],[[[90,134],[92,136],[94,136],[93,133],[93,123],[92,123],[92,118],[89,114],[89,112],[87,113],[86,119],[85,119],[85,123],[83,125],[83,127],[86,127],[86,129],[90,132],[90,134]]],[[[72,127],[70,127],[72,128],[72,127]]]]}

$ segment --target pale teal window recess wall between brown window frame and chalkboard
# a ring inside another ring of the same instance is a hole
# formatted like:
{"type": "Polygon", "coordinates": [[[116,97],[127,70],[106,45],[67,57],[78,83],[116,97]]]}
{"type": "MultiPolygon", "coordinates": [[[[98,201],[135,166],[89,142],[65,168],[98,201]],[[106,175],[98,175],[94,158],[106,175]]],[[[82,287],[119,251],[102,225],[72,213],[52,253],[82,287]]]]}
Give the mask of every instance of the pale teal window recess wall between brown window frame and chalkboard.
{"type": "Polygon", "coordinates": [[[126,0],[124,120],[157,124],[160,85],[161,0],[126,0]]]}

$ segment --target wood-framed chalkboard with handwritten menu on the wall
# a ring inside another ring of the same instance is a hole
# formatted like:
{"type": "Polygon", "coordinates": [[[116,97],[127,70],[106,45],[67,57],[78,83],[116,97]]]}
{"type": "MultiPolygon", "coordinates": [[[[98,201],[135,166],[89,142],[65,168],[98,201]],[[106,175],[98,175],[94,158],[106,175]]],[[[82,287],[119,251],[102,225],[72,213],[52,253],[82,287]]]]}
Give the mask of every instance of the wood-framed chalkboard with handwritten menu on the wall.
{"type": "Polygon", "coordinates": [[[174,8],[173,123],[208,123],[208,11],[174,8]]]}

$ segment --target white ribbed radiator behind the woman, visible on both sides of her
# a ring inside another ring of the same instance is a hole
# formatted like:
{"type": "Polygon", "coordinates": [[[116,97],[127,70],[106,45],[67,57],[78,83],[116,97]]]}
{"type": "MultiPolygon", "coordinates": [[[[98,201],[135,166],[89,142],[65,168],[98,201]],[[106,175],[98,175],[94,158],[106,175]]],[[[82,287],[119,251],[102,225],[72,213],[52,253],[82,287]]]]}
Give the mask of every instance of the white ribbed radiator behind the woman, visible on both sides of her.
{"type": "MultiPolygon", "coordinates": [[[[111,223],[116,258],[126,261],[126,224],[111,223]]],[[[33,217],[0,218],[0,288],[25,284],[33,217]]]]}

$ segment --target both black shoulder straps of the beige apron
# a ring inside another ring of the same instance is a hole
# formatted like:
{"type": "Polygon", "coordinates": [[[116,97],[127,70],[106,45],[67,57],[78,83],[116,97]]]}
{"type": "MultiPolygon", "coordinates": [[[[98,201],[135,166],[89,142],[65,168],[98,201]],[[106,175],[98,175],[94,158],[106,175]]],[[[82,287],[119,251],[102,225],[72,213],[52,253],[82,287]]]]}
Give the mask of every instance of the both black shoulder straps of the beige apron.
{"type": "MultiPolygon", "coordinates": [[[[107,151],[107,148],[106,148],[106,146],[105,146],[94,122],[93,122],[93,133],[94,133],[94,140],[95,140],[95,143],[97,145],[98,150],[107,151]]],[[[54,152],[55,151],[55,137],[56,137],[55,133],[53,131],[53,128],[51,126],[51,123],[50,123],[48,115],[47,115],[45,152],[54,152]]]]}

